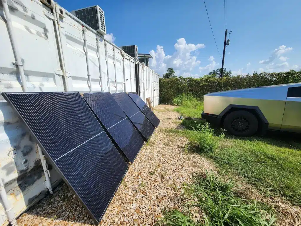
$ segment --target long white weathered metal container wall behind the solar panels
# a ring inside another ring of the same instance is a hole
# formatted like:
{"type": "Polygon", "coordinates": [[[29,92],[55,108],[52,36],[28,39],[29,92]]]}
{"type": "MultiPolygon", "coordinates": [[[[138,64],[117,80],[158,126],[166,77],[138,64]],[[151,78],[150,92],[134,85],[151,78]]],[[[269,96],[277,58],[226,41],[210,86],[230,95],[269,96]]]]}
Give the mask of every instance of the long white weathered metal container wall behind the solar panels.
{"type": "MultiPolygon", "coordinates": [[[[54,5],[54,2],[52,2],[54,5]]],[[[15,0],[9,2],[9,9],[19,51],[24,67],[29,92],[64,91],[64,84],[58,54],[57,33],[53,14],[48,6],[37,0],[15,0]]],[[[82,26],[76,17],[66,12],[60,16],[61,44],[67,71],[69,91],[89,92],[87,63],[84,51],[82,26]]],[[[0,92],[22,92],[19,71],[13,64],[14,52],[8,33],[6,19],[0,5],[0,92]]],[[[135,64],[140,70],[140,96],[145,101],[151,98],[152,105],[159,103],[159,75],[140,64],[129,55],[122,55],[114,44],[104,40],[87,27],[88,65],[93,92],[134,92],[136,91],[135,64]],[[100,47],[97,48],[96,36],[100,47]],[[105,43],[107,43],[108,70],[105,43]],[[99,54],[98,54],[99,53],[99,54]],[[115,61],[114,62],[114,55],[115,61]],[[101,76],[98,57],[101,61],[101,76]],[[123,61],[124,71],[123,74],[123,61]],[[109,80],[107,81],[107,71],[109,80]],[[116,71],[116,76],[115,76],[116,71]]],[[[0,95],[0,167],[9,201],[16,215],[20,215],[30,205],[41,199],[44,187],[42,169],[36,143],[14,110],[0,95]]],[[[56,171],[51,170],[51,183],[59,181],[56,171]]],[[[0,199],[2,204],[2,200],[0,199]]],[[[4,209],[0,206],[0,212],[4,209]]],[[[8,224],[6,215],[0,224],[8,224]]]]}

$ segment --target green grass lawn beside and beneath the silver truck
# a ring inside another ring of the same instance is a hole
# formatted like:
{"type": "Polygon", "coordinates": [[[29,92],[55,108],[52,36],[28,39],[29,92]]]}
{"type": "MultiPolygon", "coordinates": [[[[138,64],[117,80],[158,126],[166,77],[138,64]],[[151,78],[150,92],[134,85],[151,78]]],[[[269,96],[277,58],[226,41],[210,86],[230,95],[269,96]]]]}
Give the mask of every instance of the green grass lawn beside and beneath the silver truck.
{"type": "MultiPolygon", "coordinates": [[[[203,106],[201,102],[184,103],[176,110],[184,116],[199,117],[200,112],[194,112],[195,106],[203,106]]],[[[239,176],[267,196],[281,196],[301,205],[300,141],[281,136],[227,136],[210,129],[203,121],[183,120],[182,125],[186,129],[168,131],[187,137],[190,151],[212,159],[220,170],[239,176]]]]}

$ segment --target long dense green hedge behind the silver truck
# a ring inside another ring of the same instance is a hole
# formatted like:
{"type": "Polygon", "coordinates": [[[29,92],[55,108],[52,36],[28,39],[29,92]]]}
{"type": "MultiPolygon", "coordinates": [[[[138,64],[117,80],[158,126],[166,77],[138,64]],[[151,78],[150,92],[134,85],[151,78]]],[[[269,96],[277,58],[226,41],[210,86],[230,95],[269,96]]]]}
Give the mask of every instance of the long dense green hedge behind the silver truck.
{"type": "Polygon", "coordinates": [[[301,82],[301,70],[223,78],[160,78],[160,104],[172,103],[172,99],[182,93],[203,99],[207,93],[294,82],[301,82]]]}

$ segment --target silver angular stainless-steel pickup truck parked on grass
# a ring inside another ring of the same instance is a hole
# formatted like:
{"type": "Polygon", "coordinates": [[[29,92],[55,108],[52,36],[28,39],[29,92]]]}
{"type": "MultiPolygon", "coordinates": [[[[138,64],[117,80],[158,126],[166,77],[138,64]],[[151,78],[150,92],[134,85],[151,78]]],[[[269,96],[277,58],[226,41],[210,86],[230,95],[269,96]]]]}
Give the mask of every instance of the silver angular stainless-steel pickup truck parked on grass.
{"type": "Polygon", "coordinates": [[[301,133],[301,83],[208,93],[202,118],[235,136],[265,130],[301,133]]]}

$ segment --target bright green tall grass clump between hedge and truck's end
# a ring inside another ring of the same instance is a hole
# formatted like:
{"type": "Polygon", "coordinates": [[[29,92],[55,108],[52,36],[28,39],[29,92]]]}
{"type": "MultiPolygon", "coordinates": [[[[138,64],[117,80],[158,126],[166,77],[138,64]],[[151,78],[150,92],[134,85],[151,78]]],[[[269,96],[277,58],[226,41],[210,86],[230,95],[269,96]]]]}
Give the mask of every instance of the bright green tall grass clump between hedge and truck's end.
{"type": "Polygon", "coordinates": [[[201,118],[201,114],[204,109],[202,101],[198,101],[190,95],[182,94],[177,96],[173,100],[173,103],[179,105],[175,111],[180,113],[180,115],[191,118],[201,118]]]}

